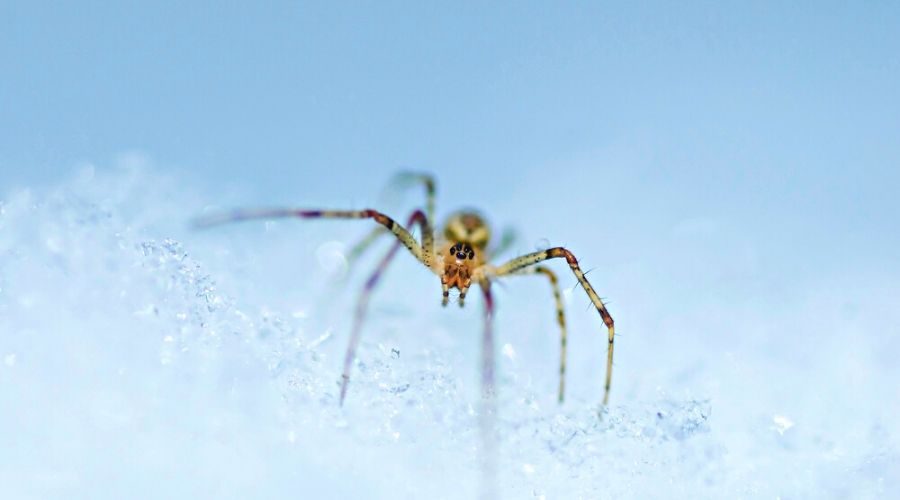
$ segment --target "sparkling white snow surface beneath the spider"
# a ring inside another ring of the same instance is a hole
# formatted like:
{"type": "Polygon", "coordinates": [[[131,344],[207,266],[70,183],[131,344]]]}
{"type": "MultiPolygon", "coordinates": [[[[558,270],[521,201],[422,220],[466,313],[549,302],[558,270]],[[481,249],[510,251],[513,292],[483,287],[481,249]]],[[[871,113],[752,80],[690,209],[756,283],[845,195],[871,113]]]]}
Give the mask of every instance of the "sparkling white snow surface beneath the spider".
{"type": "MultiPolygon", "coordinates": [[[[365,278],[341,252],[365,231],[189,231],[212,203],[146,170],[87,169],[4,195],[0,496],[476,497],[479,301],[443,310],[436,283],[398,263],[372,302],[341,408],[348,316],[365,278]]],[[[762,326],[760,310],[688,311],[733,315],[749,340],[725,348],[696,333],[703,320],[665,338],[633,322],[599,419],[602,325],[586,299],[567,293],[570,345],[582,347],[559,406],[549,291],[533,296],[545,310],[501,289],[500,491],[900,496],[900,353],[896,329],[883,328],[897,324],[884,299],[896,287],[878,292],[886,305],[874,319],[827,296],[762,326]]],[[[612,306],[620,325],[627,303],[612,306]]]]}

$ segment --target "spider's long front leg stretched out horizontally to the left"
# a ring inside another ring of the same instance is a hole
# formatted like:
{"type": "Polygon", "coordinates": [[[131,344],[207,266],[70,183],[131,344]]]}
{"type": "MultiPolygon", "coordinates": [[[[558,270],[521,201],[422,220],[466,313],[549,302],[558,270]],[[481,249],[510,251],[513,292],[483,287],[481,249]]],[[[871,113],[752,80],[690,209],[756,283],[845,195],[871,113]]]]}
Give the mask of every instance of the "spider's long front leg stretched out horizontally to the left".
{"type": "Polygon", "coordinates": [[[437,272],[433,269],[434,263],[434,236],[430,230],[423,232],[422,245],[416,242],[416,239],[409,233],[406,228],[397,224],[394,219],[387,215],[372,209],[366,210],[304,210],[292,208],[262,208],[262,209],[245,209],[233,212],[212,215],[194,221],[194,227],[206,228],[219,224],[230,222],[238,222],[252,219],[278,219],[278,218],[299,218],[299,219],[373,219],[381,224],[399,240],[409,250],[409,252],[425,267],[437,272]]]}

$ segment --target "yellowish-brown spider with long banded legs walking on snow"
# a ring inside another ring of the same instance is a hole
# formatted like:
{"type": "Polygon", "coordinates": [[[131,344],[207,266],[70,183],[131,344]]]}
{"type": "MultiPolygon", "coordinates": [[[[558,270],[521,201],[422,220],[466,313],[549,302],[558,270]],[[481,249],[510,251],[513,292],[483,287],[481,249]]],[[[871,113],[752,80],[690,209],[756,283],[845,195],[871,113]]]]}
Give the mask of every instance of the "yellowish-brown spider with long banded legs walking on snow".
{"type": "Polygon", "coordinates": [[[440,278],[443,292],[442,305],[450,300],[450,290],[459,290],[459,306],[465,305],[466,294],[472,284],[477,284],[484,297],[484,334],[482,337],[482,392],[485,396],[493,393],[494,388],[494,340],[492,319],[494,316],[494,298],[491,294],[491,282],[500,278],[541,274],[547,277],[556,302],[556,319],[560,330],[560,365],[559,365],[559,403],[565,394],[566,374],[566,319],[562,296],[556,273],[547,267],[537,265],[550,259],[565,259],[572,273],[587,293],[609,333],[609,348],[606,355],[606,381],[603,389],[603,405],[609,401],[609,390],[612,381],[613,339],[615,328],[613,319],[606,306],[594,291],[578,266],[578,260],[568,249],[553,247],[510,259],[500,265],[489,263],[492,257],[502,253],[512,242],[510,233],[502,238],[499,245],[489,248],[491,231],[484,217],[474,210],[461,210],[449,216],[440,234],[434,232],[434,200],[435,182],[431,175],[422,173],[402,173],[397,176],[398,184],[421,184],[425,188],[425,211],[417,209],[410,214],[406,226],[396,222],[384,213],[373,210],[313,210],[294,208],[263,208],[236,210],[229,213],[212,215],[195,221],[195,227],[209,227],[218,224],[237,222],[249,219],[300,218],[300,219],[371,219],[379,224],[374,230],[350,252],[352,261],[359,257],[378,237],[391,234],[396,238],[394,245],[384,255],[378,267],[366,280],[356,304],[350,343],[344,357],[344,368],[341,375],[340,404],[343,405],[350,382],[350,369],[359,345],[363,320],[366,315],[369,299],[381,275],[393,260],[400,246],[405,246],[426,269],[440,278]],[[421,233],[421,243],[412,235],[415,227],[421,233]]]}

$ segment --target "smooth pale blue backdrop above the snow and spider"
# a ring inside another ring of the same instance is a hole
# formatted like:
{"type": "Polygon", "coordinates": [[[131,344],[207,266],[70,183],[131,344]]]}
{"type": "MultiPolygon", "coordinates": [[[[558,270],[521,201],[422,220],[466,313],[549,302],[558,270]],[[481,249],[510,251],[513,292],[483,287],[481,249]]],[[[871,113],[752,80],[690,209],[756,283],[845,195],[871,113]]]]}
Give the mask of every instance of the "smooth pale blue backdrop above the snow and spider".
{"type": "Polygon", "coordinates": [[[605,236],[595,261],[715,216],[775,276],[897,269],[896,3],[0,9],[4,190],[138,150],[359,206],[416,167],[445,210],[605,236]]]}

